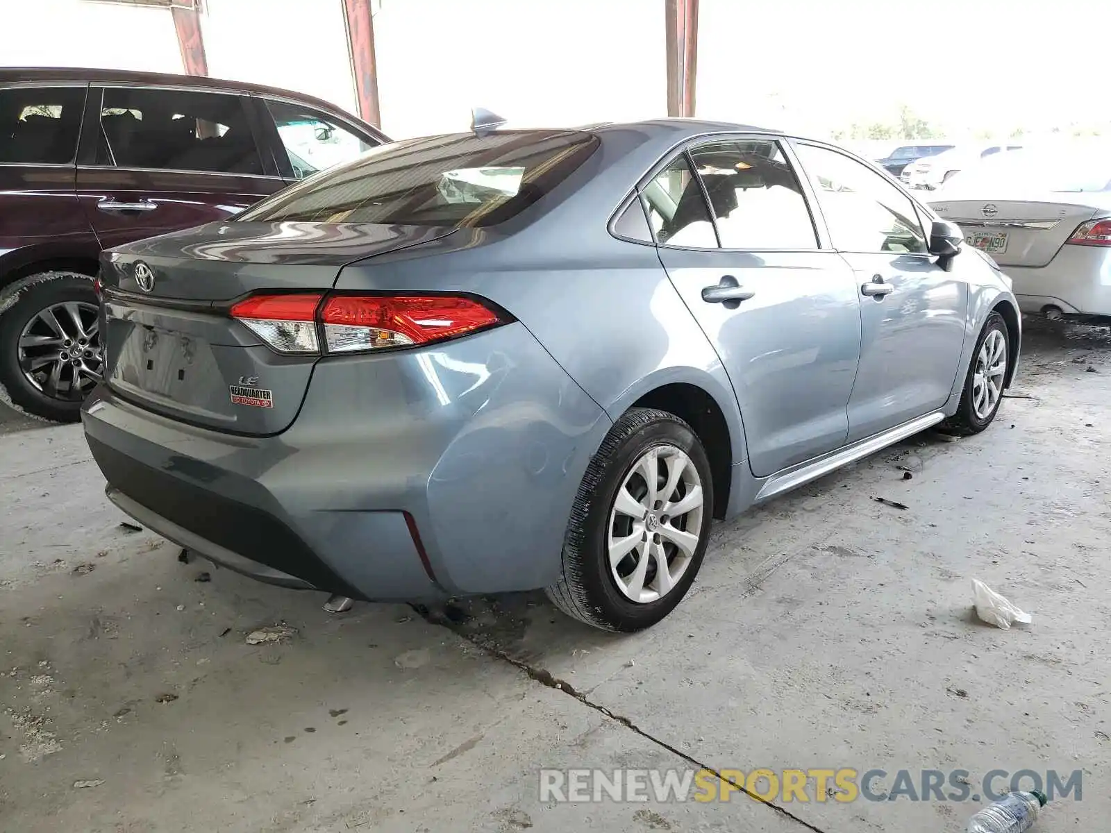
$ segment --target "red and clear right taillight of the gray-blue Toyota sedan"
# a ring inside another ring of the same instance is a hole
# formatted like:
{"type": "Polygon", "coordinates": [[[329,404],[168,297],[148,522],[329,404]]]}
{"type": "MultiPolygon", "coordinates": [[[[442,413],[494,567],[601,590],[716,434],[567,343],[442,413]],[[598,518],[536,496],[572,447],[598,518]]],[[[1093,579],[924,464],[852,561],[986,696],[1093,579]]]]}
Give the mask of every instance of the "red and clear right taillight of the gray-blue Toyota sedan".
{"type": "Polygon", "coordinates": [[[231,315],[282,353],[329,353],[429,344],[502,323],[497,312],[463,295],[254,295],[231,315]]]}

